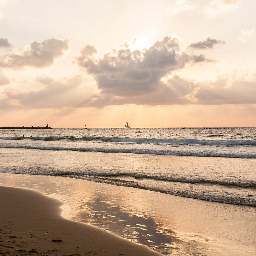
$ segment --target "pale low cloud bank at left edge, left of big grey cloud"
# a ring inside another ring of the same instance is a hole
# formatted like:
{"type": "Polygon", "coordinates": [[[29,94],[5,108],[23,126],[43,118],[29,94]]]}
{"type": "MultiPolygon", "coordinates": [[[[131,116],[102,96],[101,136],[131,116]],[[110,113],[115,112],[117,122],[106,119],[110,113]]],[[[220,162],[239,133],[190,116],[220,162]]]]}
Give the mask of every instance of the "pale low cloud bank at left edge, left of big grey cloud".
{"type": "Polygon", "coordinates": [[[96,95],[90,91],[89,86],[84,85],[82,75],[59,81],[54,81],[50,77],[45,78],[36,78],[44,84],[49,81],[49,84],[39,91],[21,92],[6,88],[0,100],[0,109],[86,107],[96,95]]]}

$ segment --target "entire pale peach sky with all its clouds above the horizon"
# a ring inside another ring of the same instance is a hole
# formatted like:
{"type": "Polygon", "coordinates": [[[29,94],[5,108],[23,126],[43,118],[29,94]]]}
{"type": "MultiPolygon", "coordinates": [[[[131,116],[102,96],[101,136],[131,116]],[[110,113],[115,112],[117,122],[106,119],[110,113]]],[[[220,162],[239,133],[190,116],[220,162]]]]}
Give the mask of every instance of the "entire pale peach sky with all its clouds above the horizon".
{"type": "Polygon", "coordinates": [[[0,126],[255,127],[254,0],[0,0],[0,126]]]}

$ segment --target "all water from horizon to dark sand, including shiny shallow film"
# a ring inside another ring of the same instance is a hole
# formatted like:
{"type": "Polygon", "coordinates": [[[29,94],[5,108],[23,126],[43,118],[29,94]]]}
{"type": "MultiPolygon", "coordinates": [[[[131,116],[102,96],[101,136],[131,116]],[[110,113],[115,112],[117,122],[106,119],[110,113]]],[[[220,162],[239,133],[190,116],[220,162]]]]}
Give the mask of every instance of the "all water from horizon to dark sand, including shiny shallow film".
{"type": "Polygon", "coordinates": [[[0,130],[1,185],[168,256],[256,255],[255,167],[255,128],[0,130]]]}

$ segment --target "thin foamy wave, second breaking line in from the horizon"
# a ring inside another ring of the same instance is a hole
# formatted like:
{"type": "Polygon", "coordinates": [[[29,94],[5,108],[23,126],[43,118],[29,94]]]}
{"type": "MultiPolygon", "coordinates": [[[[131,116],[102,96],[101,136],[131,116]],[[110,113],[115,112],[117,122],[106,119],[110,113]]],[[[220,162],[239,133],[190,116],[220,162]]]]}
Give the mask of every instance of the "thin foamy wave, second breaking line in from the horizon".
{"type": "Polygon", "coordinates": [[[70,151],[84,151],[84,152],[101,152],[101,153],[132,153],[132,154],[143,154],[143,155],[161,155],[161,156],[200,156],[200,157],[228,157],[228,158],[256,158],[254,153],[243,153],[243,152],[212,152],[194,150],[155,150],[155,149],[140,149],[140,148],[65,148],[65,147],[49,147],[49,146],[26,146],[26,145],[1,145],[0,148],[25,148],[25,149],[38,149],[38,150],[70,150],[70,151]]]}

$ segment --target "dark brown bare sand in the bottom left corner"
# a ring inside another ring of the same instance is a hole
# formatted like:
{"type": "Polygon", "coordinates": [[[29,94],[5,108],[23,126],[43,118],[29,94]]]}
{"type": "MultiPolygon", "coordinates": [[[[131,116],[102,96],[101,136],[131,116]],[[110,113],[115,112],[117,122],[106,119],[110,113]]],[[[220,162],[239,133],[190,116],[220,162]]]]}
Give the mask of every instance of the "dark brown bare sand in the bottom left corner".
{"type": "Polygon", "coordinates": [[[160,256],[145,245],[61,217],[61,202],[38,192],[0,186],[1,255],[160,256]]]}

